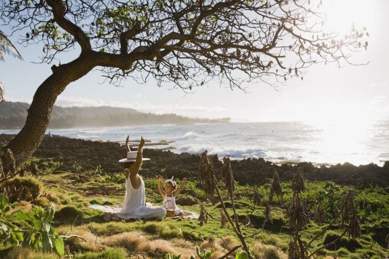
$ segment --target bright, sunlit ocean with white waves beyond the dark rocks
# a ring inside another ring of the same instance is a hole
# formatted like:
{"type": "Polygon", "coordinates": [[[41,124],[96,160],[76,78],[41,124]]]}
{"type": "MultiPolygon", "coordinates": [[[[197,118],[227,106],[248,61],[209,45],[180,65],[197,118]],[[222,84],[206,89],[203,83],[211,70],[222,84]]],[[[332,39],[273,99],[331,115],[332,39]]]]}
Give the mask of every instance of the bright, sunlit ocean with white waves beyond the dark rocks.
{"type": "MultiPolygon", "coordinates": [[[[229,155],[231,159],[263,158],[275,163],[314,164],[375,163],[389,160],[389,120],[370,123],[256,122],[223,124],[169,124],[103,128],[50,129],[68,138],[124,142],[142,136],[151,142],[172,141],[166,148],[174,153],[189,152],[229,155]]],[[[17,134],[3,130],[0,134],[17,134]]]]}

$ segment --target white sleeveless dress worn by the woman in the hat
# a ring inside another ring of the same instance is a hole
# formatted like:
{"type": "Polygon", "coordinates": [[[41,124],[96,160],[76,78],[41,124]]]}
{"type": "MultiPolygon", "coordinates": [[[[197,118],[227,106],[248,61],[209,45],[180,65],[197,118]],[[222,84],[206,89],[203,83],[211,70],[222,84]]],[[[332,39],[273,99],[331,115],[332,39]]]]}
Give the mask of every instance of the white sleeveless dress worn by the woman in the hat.
{"type": "Polygon", "coordinates": [[[163,219],[166,216],[166,210],[162,207],[152,206],[146,203],[146,192],[144,189],[143,179],[138,175],[140,186],[135,189],[130,177],[126,181],[126,194],[122,211],[116,213],[119,218],[124,220],[129,219],[163,219]]]}

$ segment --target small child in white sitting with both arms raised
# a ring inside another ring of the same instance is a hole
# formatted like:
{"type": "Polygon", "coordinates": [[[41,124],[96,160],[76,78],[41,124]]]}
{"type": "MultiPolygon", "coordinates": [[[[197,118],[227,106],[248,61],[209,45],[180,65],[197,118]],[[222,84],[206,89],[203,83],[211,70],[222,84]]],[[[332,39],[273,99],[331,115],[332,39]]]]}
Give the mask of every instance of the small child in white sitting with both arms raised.
{"type": "Polygon", "coordinates": [[[164,199],[163,207],[165,209],[173,209],[174,210],[174,216],[183,217],[184,213],[182,213],[181,209],[176,205],[176,196],[182,191],[184,188],[186,178],[182,179],[181,185],[177,190],[177,183],[173,181],[172,179],[168,179],[165,181],[165,191],[162,190],[162,176],[159,178],[158,182],[158,191],[160,191],[160,194],[162,198],[164,199]]]}

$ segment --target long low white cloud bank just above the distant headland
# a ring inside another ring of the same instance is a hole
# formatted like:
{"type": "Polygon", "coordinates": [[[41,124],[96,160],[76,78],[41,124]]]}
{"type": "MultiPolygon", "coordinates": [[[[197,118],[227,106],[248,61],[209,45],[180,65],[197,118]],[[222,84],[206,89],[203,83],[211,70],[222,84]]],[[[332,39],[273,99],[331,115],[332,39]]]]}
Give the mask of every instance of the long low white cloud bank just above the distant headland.
{"type": "Polygon", "coordinates": [[[156,114],[163,113],[176,113],[186,116],[212,116],[212,113],[223,112],[226,109],[220,106],[215,107],[205,107],[205,106],[184,106],[184,105],[154,105],[148,102],[116,102],[116,101],[106,101],[106,100],[92,100],[88,98],[79,98],[79,97],[63,97],[59,96],[56,105],[61,107],[96,107],[96,106],[112,106],[112,107],[124,107],[132,108],[141,112],[152,112],[156,114]],[[208,114],[209,113],[209,114],[208,114]]]}

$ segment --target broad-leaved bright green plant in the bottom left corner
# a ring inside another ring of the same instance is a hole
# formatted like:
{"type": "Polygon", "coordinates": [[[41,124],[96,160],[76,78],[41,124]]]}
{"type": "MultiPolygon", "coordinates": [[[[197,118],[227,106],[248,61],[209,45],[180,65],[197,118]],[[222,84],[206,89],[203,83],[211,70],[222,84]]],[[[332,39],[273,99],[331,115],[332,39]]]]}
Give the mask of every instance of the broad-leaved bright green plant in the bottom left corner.
{"type": "Polygon", "coordinates": [[[23,231],[22,245],[31,246],[36,250],[51,251],[53,248],[59,255],[64,254],[63,239],[50,222],[54,219],[54,205],[45,209],[32,205],[30,213],[17,210],[11,215],[20,220],[31,223],[32,228],[23,231]]]}

